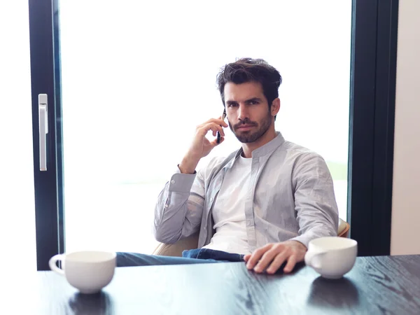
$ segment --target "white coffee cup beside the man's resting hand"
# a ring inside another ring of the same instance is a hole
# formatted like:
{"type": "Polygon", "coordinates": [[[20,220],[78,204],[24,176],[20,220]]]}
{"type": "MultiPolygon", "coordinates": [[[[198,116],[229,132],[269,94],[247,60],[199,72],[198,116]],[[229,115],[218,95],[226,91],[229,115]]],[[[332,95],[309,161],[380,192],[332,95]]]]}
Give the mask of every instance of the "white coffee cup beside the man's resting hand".
{"type": "Polygon", "coordinates": [[[339,279],[353,268],[357,241],[345,237],[320,237],[309,241],[304,262],[327,279],[339,279]]]}

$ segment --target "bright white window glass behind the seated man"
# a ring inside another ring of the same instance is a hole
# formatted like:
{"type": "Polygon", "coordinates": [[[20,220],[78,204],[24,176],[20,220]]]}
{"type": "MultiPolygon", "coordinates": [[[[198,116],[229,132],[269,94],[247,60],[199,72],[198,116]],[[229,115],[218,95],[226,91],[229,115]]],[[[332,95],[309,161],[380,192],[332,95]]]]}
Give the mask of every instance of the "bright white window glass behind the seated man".
{"type": "MultiPolygon", "coordinates": [[[[237,57],[280,71],[276,129],[323,155],[346,220],[351,1],[253,3],[61,1],[67,251],[153,251],[158,194],[237,57]]],[[[199,167],[239,145],[229,131],[199,167]]]]}

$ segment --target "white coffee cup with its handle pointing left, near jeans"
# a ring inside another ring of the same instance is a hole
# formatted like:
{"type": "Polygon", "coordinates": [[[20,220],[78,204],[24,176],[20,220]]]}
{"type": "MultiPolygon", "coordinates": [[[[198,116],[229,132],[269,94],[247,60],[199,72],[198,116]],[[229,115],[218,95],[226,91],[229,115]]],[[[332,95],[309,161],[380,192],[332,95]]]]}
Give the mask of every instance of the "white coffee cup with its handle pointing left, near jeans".
{"type": "Polygon", "coordinates": [[[106,251],[77,251],[55,255],[50,259],[50,269],[65,276],[80,293],[98,293],[107,286],[116,269],[116,253],[106,251]],[[56,262],[62,261],[62,269],[56,262]]]}

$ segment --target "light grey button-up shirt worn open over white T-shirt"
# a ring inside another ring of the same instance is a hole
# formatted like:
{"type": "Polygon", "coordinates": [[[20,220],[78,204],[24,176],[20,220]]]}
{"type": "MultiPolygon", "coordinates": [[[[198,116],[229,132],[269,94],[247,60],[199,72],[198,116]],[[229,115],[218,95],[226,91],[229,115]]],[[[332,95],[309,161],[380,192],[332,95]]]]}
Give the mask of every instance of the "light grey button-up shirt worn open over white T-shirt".
{"type": "MultiPolygon", "coordinates": [[[[198,247],[214,235],[211,211],[227,169],[242,149],[214,158],[197,174],[179,169],[166,183],[155,207],[154,233],[173,244],[200,231],[198,247]]],[[[250,185],[244,211],[250,251],[267,243],[336,236],[338,209],[332,178],[320,155],[284,141],[280,132],[252,152],[250,185]]]]}

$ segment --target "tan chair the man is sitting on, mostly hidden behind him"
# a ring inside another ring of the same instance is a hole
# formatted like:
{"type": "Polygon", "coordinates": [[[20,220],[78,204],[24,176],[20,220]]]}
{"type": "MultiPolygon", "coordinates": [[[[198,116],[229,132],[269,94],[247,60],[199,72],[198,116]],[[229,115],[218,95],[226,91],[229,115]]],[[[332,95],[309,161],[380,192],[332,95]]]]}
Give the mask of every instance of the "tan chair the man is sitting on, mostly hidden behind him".
{"type": "MultiPolygon", "coordinates": [[[[339,225],[337,229],[337,235],[339,237],[349,236],[350,225],[346,221],[339,219],[339,225]]],[[[158,247],[153,251],[153,255],[165,255],[165,256],[182,256],[182,252],[186,249],[197,248],[198,246],[198,233],[191,235],[184,239],[180,239],[175,244],[163,244],[160,243],[158,247]]]]}

